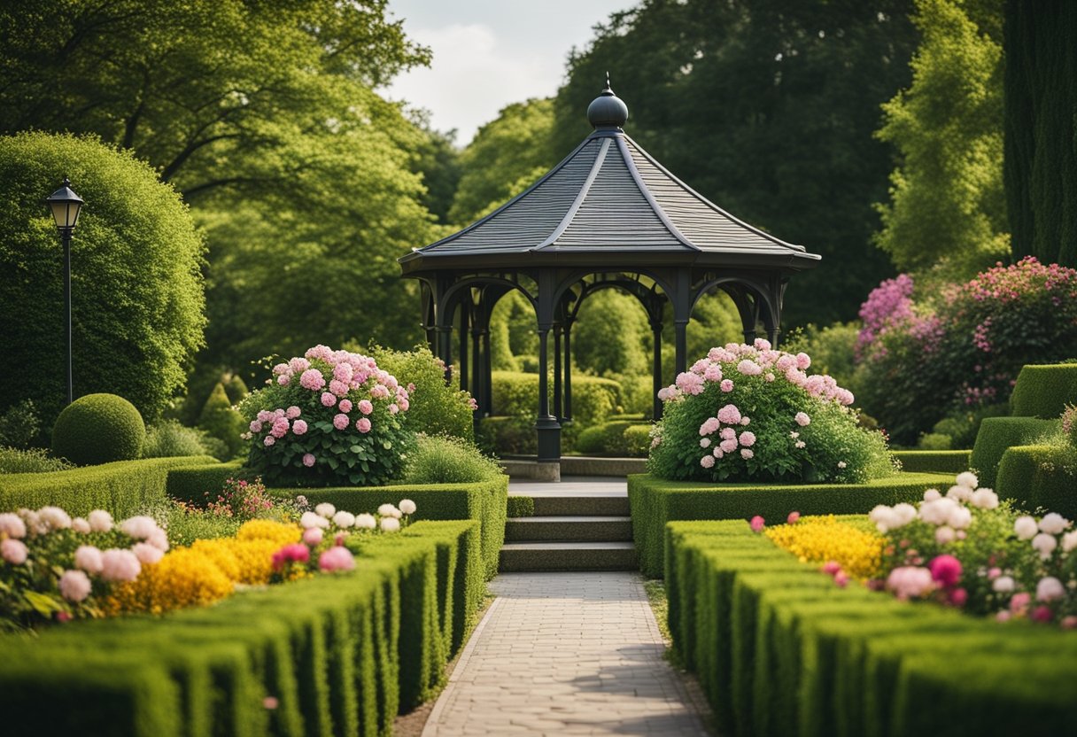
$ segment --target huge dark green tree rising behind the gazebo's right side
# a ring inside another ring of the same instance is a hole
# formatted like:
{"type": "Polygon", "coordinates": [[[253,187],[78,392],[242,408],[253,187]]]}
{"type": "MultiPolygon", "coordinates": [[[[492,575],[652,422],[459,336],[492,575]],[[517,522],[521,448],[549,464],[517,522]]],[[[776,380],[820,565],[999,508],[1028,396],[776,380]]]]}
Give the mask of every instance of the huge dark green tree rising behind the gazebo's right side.
{"type": "Polygon", "coordinates": [[[555,150],[587,135],[609,70],[626,130],[708,198],[823,254],[786,325],[855,317],[890,270],[871,245],[886,193],[879,106],[908,84],[911,0],[644,0],[569,62],[555,150]]]}

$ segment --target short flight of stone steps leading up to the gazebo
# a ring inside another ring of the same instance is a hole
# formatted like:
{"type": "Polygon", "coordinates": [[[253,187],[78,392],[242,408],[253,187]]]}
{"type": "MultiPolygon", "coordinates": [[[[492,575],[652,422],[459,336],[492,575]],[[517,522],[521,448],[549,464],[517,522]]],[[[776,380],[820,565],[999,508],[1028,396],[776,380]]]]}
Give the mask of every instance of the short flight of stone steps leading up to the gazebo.
{"type": "Polygon", "coordinates": [[[534,516],[505,526],[503,573],[639,569],[628,497],[579,491],[533,498],[534,516]]]}

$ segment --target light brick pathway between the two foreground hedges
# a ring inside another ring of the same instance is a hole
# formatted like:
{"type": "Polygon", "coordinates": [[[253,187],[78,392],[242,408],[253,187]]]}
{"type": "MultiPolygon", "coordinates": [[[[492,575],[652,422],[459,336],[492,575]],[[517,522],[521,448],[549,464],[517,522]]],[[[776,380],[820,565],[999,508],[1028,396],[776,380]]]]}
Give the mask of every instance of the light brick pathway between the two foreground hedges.
{"type": "Polygon", "coordinates": [[[707,735],[638,573],[503,573],[423,737],[707,735]]]}

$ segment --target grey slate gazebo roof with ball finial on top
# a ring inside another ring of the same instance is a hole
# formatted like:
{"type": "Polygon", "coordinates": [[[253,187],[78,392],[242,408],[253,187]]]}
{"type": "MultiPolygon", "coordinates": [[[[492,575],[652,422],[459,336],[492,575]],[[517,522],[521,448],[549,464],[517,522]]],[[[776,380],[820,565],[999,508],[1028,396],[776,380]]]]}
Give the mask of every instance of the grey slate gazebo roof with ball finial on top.
{"type": "Polygon", "coordinates": [[[625,135],[627,116],[607,86],[588,109],[595,131],[564,161],[481,220],[402,258],[405,274],[611,258],[791,272],[816,265],[819,255],[737,219],[673,176],[625,135]]]}

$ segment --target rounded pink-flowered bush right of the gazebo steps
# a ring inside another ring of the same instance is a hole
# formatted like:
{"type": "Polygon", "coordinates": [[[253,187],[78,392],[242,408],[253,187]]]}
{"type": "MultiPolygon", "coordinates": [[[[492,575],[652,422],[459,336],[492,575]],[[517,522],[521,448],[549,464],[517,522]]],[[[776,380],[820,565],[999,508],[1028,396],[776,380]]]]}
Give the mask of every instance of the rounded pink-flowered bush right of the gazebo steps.
{"type": "Polygon", "coordinates": [[[661,478],[863,482],[892,472],[883,435],[811,359],[730,343],[662,389],[648,470],[661,478]]]}

